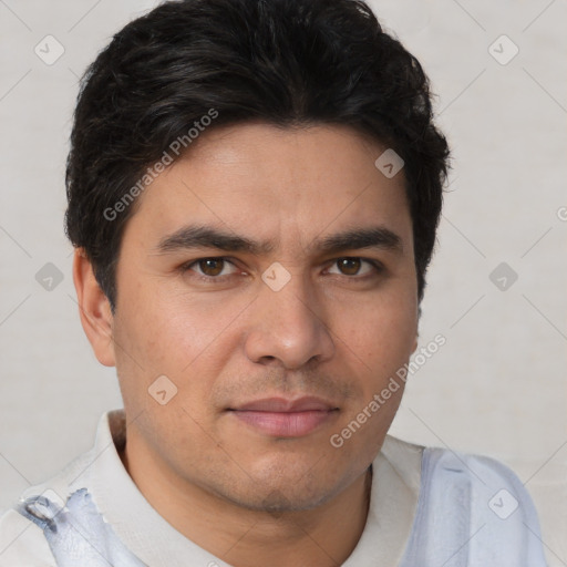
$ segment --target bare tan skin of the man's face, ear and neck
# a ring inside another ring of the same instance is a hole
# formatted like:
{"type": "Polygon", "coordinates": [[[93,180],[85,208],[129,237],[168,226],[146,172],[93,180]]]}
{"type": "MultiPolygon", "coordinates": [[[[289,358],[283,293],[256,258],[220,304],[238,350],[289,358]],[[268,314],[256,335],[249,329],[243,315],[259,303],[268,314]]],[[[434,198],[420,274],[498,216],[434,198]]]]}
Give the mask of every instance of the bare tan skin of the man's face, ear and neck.
{"type": "Polygon", "coordinates": [[[83,327],[118,374],[128,473],[177,530],[231,565],[338,565],[364,527],[369,466],[403,388],[343,446],[329,440],[386,386],[417,333],[403,173],[377,169],[384,150],[342,126],[205,132],[138,197],[114,315],[75,255],[83,327]],[[196,225],[271,250],[171,238],[196,225]],[[373,228],[398,245],[320,249],[373,228]],[[197,261],[215,257],[228,261],[197,261]],[[267,284],[286,271],[278,291],[267,284]],[[177,388],[165,405],[148,394],[161,375],[177,388]],[[244,411],[305,396],[321,408],[244,411]]]}

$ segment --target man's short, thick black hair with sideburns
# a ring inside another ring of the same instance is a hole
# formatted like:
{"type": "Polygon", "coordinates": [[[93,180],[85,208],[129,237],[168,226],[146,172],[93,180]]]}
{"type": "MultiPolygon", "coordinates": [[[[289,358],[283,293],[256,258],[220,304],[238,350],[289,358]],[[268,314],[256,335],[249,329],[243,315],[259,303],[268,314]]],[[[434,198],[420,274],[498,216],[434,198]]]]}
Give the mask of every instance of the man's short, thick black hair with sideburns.
{"type": "Polygon", "coordinates": [[[422,299],[449,148],[419,61],[360,0],[178,0],[114,35],[82,78],[74,112],[66,234],[113,309],[130,200],[206,116],[210,128],[347,125],[393,148],[404,161],[422,299]]]}

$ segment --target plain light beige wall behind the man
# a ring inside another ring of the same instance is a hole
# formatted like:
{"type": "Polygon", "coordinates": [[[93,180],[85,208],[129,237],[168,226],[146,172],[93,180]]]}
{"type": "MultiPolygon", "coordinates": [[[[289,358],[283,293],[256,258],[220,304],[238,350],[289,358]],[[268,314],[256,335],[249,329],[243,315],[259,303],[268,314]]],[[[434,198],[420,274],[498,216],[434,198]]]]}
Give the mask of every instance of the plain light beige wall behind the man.
{"type": "MultiPolygon", "coordinates": [[[[122,405],[79,323],[63,173],[78,78],[153,6],[0,0],[0,508],[122,405]],[[47,35],[64,49],[52,65],[34,52],[47,35]],[[35,279],[48,262],[63,277],[51,291],[35,279]]],[[[512,466],[549,565],[567,565],[567,3],[372,6],[424,65],[453,147],[421,321],[423,346],[446,344],[411,377],[391,433],[512,466]]]]}

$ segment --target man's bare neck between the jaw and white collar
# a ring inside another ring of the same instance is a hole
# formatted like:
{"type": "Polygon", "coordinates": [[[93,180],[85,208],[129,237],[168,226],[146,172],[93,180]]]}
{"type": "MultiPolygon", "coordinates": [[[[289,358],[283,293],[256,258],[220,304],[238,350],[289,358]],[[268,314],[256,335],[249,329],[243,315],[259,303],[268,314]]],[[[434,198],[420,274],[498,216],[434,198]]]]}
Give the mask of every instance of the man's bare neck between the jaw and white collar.
{"type": "Polygon", "coordinates": [[[234,567],[342,565],[367,522],[371,468],[310,511],[250,511],[164,473],[128,440],[122,462],[146,501],[177,532],[234,567]]]}

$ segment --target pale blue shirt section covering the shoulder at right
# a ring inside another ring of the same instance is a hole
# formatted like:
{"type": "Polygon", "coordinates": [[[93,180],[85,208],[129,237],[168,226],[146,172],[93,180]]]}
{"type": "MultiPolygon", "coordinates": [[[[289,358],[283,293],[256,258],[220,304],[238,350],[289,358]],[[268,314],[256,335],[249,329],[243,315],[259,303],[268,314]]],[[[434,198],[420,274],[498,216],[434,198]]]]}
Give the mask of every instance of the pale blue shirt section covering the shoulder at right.
{"type": "Polygon", "coordinates": [[[468,557],[471,566],[546,565],[536,509],[511,468],[487,456],[422,447],[409,565],[453,556],[468,557]]]}

